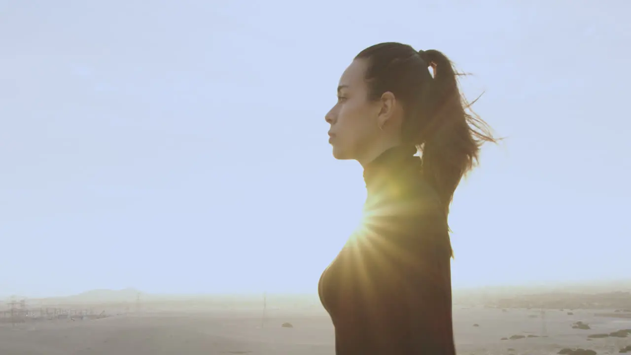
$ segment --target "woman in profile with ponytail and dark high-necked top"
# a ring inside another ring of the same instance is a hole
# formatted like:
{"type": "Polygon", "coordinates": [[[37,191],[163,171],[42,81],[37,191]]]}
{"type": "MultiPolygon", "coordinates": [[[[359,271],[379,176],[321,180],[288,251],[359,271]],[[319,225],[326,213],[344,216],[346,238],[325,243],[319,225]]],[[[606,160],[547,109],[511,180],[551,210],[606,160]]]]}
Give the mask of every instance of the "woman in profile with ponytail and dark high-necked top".
{"type": "Polygon", "coordinates": [[[319,282],[337,355],[455,354],[447,214],[481,143],[495,141],[467,109],[438,51],[373,45],[341,76],[329,143],[362,164],[367,200],[319,282]]]}

